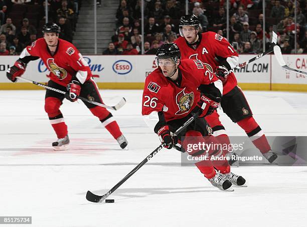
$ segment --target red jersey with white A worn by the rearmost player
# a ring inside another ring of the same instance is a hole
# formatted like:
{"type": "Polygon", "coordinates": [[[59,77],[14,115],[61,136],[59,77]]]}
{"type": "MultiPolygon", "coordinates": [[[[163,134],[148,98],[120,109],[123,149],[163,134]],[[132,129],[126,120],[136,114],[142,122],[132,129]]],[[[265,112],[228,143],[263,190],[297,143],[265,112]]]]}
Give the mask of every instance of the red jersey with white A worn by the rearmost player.
{"type": "MultiPolygon", "coordinates": [[[[238,64],[238,53],[219,34],[205,32],[201,34],[200,39],[200,44],[196,49],[190,47],[184,37],[179,37],[175,41],[180,49],[182,59],[199,59],[211,72],[214,72],[215,68],[221,65],[221,62],[219,62],[221,59],[225,59],[230,68],[234,68],[238,64]]],[[[237,79],[233,73],[230,73],[228,80],[224,84],[223,95],[227,94],[236,85],[237,79]]]]}

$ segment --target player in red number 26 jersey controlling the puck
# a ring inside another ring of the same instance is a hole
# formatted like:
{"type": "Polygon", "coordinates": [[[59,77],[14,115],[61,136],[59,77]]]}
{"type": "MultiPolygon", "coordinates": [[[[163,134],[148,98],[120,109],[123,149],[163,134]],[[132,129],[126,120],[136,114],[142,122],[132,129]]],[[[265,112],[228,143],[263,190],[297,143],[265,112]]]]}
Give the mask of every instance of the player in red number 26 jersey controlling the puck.
{"type": "MultiPolygon", "coordinates": [[[[181,60],[176,44],[165,44],[158,49],[156,64],[159,66],[145,80],[142,115],[149,127],[154,129],[165,147],[171,149],[178,143],[193,157],[208,153],[210,157],[223,157],[222,149],[208,151],[193,148],[189,144],[217,143],[210,135],[211,128],[204,116],[210,115],[219,105],[222,96],[222,82],[199,60],[181,60]],[[175,132],[190,117],[198,112],[197,118],[180,135],[175,132]]],[[[231,185],[246,186],[245,179],[230,172],[227,160],[202,160],[195,164],[204,176],[221,190],[233,190],[231,185]],[[218,172],[216,171],[218,170],[218,172]]]]}

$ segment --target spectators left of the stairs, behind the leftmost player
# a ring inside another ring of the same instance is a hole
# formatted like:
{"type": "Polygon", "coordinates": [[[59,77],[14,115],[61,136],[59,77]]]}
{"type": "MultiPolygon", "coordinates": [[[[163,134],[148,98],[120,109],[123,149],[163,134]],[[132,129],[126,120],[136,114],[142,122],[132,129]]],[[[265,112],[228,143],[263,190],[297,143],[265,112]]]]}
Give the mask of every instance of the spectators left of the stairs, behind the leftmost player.
{"type": "MultiPolygon", "coordinates": [[[[79,0],[48,0],[48,22],[61,27],[59,37],[72,42],[79,0]]],[[[19,55],[42,37],[46,23],[44,0],[0,0],[0,55],[19,55]]]]}

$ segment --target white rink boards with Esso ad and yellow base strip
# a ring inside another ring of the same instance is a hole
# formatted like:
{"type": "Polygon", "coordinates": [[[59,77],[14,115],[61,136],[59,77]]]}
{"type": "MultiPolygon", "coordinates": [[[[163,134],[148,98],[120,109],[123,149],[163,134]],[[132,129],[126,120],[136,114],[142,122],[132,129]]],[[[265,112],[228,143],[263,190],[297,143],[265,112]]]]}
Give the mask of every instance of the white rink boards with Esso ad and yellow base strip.
{"type": "MultiPolygon", "coordinates": [[[[254,55],[240,55],[245,62],[254,55]]],[[[283,55],[292,68],[307,71],[307,55],[283,55]]],[[[18,82],[11,83],[6,70],[18,59],[17,56],[0,56],[0,89],[41,89],[38,86],[18,82]]],[[[146,76],[157,68],[152,55],[87,55],[85,62],[90,66],[95,81],[104,89],[142,89],[146,76]]],[[[28,64],[24,77],[38,82],[48,81],[49,70],[41,60],[28,64]]],[[[274,55],[267,55],[235,73],[239,85],[245,90],[307,91],[304,75],[283,70],[274,55]]]]}

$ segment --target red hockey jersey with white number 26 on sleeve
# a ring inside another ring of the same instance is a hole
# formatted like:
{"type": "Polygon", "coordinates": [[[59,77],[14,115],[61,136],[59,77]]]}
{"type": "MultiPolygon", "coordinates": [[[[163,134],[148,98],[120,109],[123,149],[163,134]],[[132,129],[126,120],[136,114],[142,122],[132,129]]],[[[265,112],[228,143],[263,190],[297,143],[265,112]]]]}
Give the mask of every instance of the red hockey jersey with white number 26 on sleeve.
{"type": "Polygon", "coordinates": [[[200,60],[184,59],[178,68],[177,83],[167,79],[159,68],[146,77],[142,98],[143,116],[153,112],[158,115],[163,110],[166,121],[186,117],[200,99],[197,88],[201,84],[217,83],[216,87],[222,94],[222,82],[200,60]]]}

